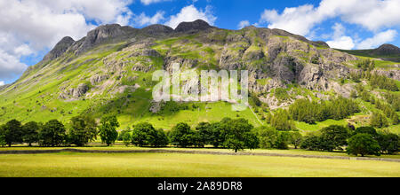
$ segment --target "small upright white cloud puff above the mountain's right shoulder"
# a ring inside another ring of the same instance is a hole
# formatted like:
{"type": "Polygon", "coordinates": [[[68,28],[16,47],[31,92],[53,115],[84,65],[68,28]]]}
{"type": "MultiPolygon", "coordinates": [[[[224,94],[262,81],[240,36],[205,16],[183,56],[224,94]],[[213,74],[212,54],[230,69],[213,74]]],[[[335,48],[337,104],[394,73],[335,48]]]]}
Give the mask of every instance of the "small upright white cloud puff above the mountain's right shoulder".
{"type": "Polygon", "coordinates": [[[351,50],[354,48],[355,43],[351,37],[345,35],[346,29],[343,25],[336,23],[332,29],[334,30],[333,40],[326,42],[330,47],[342,50],[351,50]]]}

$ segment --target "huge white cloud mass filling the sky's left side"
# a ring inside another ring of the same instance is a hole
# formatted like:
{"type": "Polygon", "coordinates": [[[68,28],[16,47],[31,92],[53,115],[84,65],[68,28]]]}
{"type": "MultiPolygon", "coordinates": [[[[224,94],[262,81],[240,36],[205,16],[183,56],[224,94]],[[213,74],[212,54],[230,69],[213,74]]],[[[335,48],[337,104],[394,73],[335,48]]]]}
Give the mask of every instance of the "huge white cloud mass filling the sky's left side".
{"type": "Polygon", "coordinates": [[[21,74],[20,58],[52,48],[63,36],[80,39],[94,25],[128,24],[132,0],[0,0],[0,80],[21,74]]]}

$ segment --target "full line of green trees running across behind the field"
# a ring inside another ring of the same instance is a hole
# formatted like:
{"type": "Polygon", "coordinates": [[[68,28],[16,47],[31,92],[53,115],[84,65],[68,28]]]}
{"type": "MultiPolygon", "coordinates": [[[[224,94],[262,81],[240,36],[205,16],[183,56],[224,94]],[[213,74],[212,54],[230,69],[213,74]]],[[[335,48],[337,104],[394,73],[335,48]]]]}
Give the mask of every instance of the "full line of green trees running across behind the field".
{"type": "Polygon", "coordinates": [[[46,123],[12,120],[0,126],[0,145],[38,143],[41,146],[60,146],[76,144],[83,146],[100,136],[105,144],[114,144],[116,140],[126,145],[140,147],[198,147],[206,145],[232,149],[235,152],[244,149],[295,149],[310,151],[344,151],[349,154],[380,155],[398,152],[399,136],[388,132],[377,132],[372,127],[355,129],[353,126],[332,125],[307,136],[299,131],[282,131],[273,127],[254,128],[244,119],[225,118],[218,122],[200,122],[192,129],[187,123],[180,122],[171,130],[155,129],[152,124],[142,122],[124,129],[119,134],[119,123],[115,116],[104,117],[100,125],[91,117],[77,116],[71,119],[68,130],[57,120],[46,123]]]}

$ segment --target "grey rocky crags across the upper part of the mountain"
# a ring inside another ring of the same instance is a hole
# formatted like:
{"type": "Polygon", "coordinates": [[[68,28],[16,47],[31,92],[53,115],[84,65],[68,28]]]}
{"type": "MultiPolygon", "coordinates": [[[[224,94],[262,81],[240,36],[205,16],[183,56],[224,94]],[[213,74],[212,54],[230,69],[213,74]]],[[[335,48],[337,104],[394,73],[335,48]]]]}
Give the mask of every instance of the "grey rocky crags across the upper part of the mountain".
{"type": "MultiPolygon", "coordinates": [[[[107,77],[112,80],[113,75],[119,79],[129,77],[127,73],[132,71],[148,73],[155,70],[153,59],[158,58],[166,70],[176,62],[190,68],[213,66],[227,70],[247,69],[250,73],[250,89],[255,93],[285,88],[292,83],[308,90],[337,90],[332,81],[346,77],[351,68],[344,64],[357,59],[330,49],[326,43],[308,41],[300,35],[280,29],[246,27],[233,31],[211,27],[203,20],[196,20],[183,22],[176,29],[162,25],[142,29],[119,25],[100,26],[77,42],[70,37],[63,38],[44,57],[42,64],[52,60],[62,60],[68,64],[88,51],[93,52],[101,45],[113,43],[124,44],[119,45],[119,51],[104,56],[101,59],[103,66],[93,70],[90,78],[107,77]],[[268,82],[262,82],[266,80],[268,82]]],[[[88,58],[86,62],[91,60],[94,59],[88,58]]],[[[47,68],[52,68],[50,66],[51,63],[47,68]]],[[[40,76],[36,75],[36,78],[40,76]]],[[[111,82],[111,85],[118,85],[117,81],[111,82]]],[[[89,91],[79,90],[83,91],[79,92],[79,96],[73,95],[71,91],[77,89],[67,86],[60,91],[59,97],[79,98],[84,95],[82,93],[89,91]]]]}

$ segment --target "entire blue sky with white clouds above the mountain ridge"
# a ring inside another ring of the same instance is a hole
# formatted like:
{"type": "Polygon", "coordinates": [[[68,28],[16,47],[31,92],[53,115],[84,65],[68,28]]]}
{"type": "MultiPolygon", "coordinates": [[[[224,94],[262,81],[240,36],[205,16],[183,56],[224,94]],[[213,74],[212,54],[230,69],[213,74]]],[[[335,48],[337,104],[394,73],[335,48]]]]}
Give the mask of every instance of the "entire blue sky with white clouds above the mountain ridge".
{"type": "Polygon", "coordinates": [[[340,49],[400,45],[400,0],[0,0],[0,85],[14,82],[63,36],[94,27],[202,19],[216,27],[281,28],[340,49]]]}

